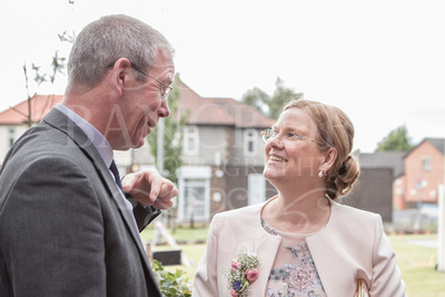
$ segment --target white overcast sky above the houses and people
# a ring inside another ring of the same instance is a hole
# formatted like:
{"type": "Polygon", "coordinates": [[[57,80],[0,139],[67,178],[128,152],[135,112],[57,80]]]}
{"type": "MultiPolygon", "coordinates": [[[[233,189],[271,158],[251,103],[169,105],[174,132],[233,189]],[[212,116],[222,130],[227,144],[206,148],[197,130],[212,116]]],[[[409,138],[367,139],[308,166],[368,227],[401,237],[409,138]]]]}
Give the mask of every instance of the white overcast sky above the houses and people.
{"type": "MultiPolygon", "coordinates": [[[[68,57],[58,33],[126,13],[170,40],[177,72],[202,97],[271,93],[279,77],[305,99],[342,108],[355,149],[373,151],[402,125],[414,143],[445,137],[443,0],[0,1],[0,111],[27,98],[24,61],[44,68],[56,50],[68,57]]],[[[55,87],[30,82],[30,93],[65,86],[59,76],[55,87]]]]}

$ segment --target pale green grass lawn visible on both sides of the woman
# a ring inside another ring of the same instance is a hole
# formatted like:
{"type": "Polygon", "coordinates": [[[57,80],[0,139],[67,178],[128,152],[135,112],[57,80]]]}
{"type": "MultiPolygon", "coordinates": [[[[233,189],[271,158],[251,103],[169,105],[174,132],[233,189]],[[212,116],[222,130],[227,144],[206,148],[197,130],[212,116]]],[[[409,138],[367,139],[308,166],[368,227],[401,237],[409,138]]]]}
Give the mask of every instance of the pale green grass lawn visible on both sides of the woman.
{"type": "MultiPolygon", "coordinates": [[[[144,240],[149,241],[152,237],[152,229],[141,234],[144,240]]],[[[174,235],[177,241],[190,242],[194,240],[206,240],[206,228],[181,228],[174,235]]],[[[445,273],[435,270],[437,263],[437,250],[434,247],[425,246],[437,240],[436,235],[390,235],[388,236],[393,248],[397,255],[397,263],[402,270],[402,277],[406,284],[406,293],[409,297],[445,297],[445,273]]],[[[156,250],[169,249],[168,245],[155,247],[156,250]]],[[[180,245],[182,254],[190,259],[194,265],[167,266],[168,270],[180,269],[186,271],[191,281],[195,275],[196,265],[201,257],[205,245],[186,244],[180,245]]]]}

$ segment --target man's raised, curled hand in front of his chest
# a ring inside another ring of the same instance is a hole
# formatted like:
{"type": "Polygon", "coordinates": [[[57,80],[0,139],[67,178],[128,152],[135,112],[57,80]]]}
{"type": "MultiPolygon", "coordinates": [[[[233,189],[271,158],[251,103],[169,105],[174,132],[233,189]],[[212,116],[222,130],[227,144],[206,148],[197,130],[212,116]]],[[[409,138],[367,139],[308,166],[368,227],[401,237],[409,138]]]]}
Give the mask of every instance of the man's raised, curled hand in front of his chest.
{"type": "Polygon", "coordinates": [[[167,209],[174,205],[171,200],[178,196],[175,185],[161,177],[156,169],[142,170],[127,175],[122,179],[123,191],[131,195],[140,205],[156,209],[167,209]]]}

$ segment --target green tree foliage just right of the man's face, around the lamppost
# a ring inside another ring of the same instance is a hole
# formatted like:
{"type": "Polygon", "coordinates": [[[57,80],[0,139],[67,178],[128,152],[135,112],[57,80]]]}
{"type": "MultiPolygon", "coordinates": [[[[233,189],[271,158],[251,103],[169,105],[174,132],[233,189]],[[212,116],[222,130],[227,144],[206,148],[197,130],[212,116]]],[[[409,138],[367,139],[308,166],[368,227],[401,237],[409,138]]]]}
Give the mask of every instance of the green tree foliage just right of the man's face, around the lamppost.
{"type": "MultiPolygon", "coordinates": [[[[187,123],[187,115],[178,119],[177,111],[179,106],[179,88],[176,88],[179,80],[177,76],[174,82],[174,90],[168,97],[168,106],[172,116],[162,119],[164,120],[164,171],[160,172],[169,180],[177,182],[177,169],[182,166],[182,139],[184,139],[184,126],[187,123]]],[[[155,162],[158,165],[157,152],[158,152],[158,126],[152,129],[151,133],[147,137],[147,141],[150,146],[150,151],[155,156],[155,162]]]]}

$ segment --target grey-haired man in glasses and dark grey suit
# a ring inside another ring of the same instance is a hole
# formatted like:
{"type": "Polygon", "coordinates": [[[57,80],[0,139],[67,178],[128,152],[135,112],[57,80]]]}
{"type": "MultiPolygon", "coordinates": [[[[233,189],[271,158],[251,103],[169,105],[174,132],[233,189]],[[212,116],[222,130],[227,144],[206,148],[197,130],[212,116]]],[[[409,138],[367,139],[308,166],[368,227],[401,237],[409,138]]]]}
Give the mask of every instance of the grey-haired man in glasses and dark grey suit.
{"type": "Polygon", "coordinates": [[[174,76],[170,44],[139,20],[103,17],[80,32],[63,102],[1,168],[0,296],[161,296],[138,228],[178,191],[156,171],[130,175],[130,204],[112,150],[141,147],[169,116],[174,76]]]}

